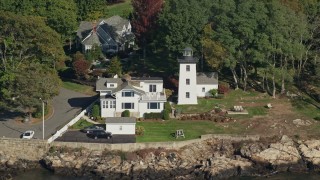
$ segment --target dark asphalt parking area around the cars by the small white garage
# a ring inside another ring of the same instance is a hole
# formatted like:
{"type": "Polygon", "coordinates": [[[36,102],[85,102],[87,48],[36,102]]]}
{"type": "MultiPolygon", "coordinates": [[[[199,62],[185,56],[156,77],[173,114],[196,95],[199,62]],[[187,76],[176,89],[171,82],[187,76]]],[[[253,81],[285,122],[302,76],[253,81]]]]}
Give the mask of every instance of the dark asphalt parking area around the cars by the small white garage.
{"type": "Polygon", "coordinates": [[[57,138],[55,141],[63,142],[88,142],[88,143],[135,143],[135,135],[113,135],[111,139],[99,138],[93,139],[87,136],[86,133],[80,131],[67,131],[61,137],[57,138]]]}

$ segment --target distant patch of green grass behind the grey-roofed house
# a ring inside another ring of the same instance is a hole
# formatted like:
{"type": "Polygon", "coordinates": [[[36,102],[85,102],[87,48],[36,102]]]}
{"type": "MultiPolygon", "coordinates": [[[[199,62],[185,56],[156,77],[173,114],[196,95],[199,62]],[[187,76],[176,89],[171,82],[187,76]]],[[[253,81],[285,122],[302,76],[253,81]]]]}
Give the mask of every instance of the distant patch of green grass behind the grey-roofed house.
{"type": "Polygon", "coordinates": [[[123,3],[107,6],[107,14],[108,14],[107,16],[111,17],[114,15],[119,15],[124,18],[128,18],[132,10],[133,8],[131,5],[131,0],[125,0],[125,2],[123,3]]]}

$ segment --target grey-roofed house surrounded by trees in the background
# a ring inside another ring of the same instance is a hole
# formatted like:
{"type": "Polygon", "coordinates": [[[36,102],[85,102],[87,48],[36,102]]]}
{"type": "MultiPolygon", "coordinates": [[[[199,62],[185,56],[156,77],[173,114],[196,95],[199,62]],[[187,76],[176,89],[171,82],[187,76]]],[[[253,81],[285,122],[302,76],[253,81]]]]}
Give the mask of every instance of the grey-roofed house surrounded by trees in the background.
{"type": "Polygon", "coordinates": [[[134,45],[130,21],[120,16],[100,19],[98,23],[82,21],[77,31],[77,45],[82,52],[90,51],[94,45],[100,46],[104,53],[124,51],[134,45]]]}

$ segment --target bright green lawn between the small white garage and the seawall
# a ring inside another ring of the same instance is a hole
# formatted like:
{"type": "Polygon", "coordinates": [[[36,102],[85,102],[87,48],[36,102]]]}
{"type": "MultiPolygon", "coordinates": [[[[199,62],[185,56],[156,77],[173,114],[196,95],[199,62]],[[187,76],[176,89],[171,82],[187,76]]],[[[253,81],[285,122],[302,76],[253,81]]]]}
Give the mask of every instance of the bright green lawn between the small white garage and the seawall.
{"type": "Polygon", "coordinates": [[[163,141],[181,141],[196,139],[204,134],[221,134],[224,129],[211,121],[149,121],[137,122],[137,126],[143,126],[145,132],[143,136],[137,136],[137,142],[163,142],[163,141]],[[174,137],[178,129],[183,129],[185,138],[174,137]]]}

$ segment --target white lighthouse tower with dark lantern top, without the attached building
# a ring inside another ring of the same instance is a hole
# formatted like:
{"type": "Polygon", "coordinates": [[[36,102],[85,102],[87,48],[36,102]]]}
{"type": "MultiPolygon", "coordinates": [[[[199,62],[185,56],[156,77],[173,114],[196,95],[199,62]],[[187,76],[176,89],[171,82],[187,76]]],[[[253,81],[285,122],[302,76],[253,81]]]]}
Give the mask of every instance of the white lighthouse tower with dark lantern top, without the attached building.
{"type": "Polygon", "coordinates": [[[179,89],[178,104],[198,104],[197,100],[197,62],[190,47],[183,50],[183,57],[178,59],[179,89]]]}

